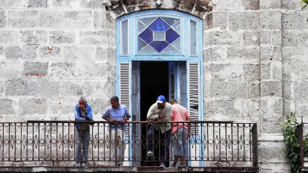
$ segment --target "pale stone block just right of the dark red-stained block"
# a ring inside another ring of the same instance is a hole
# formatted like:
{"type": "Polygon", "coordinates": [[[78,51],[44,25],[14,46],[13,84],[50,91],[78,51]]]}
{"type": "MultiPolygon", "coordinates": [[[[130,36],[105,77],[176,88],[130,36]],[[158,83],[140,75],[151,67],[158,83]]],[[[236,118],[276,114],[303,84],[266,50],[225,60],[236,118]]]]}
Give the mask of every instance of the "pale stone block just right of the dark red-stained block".
{"type": "Polygon", "coordinates": [[[77,72],[76,62],[61,61],[50,63],[50,78],[52,79],[76,79],[77,72]]]}

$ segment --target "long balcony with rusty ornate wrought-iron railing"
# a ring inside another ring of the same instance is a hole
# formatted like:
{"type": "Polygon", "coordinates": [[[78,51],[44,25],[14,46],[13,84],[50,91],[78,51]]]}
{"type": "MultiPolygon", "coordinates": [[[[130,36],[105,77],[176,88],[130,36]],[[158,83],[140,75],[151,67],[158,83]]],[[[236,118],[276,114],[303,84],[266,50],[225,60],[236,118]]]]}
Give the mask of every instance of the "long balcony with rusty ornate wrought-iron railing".
{"type": "MultiPolygon", "coordinates": [[[[93,121],[89,129],[89,148],[86,166],[76,166],[74,123],[88,121],[28,121],[0,123],[0,171],[50,171],[50,172],[258,172],[258,140],[256,123],[232,121],[183,121],[172,123],[189,128],[189,137],[184,142],[186,166],[171,168],[178,153],[174,147],[177,140],[153,134],[148,138],[151,125],[145,122],[126,122],[122,134],[113,135],[108,130],[110,123],[93,121]],[[121,136],[124,136],[123,139],[121,136]],[[118,142],[115,142],[118,141],[118,142]],[[160,145],[163,144],[163,145],[160,145]],[[152,145],[155,158],[146,155],[152,145]],[[111,146],[125,146],[122,154],[111,146]],[[166,153],[169,151],[169,155],[166,153]],[[163,154],[165,153],[165,154],[163,154]],[[114,154],[114,157],[112,157],[114,154]],[[122,156],[122,158],[121,158],[122,156]],[[159,166],[159,158],[166,167],[159,166]],[[123,166],[118,166],[123,163],[123,166]],[[117,166],[114,166],[117,165],[117,166]]],[[[153,123],[166,129],[169,124],[153,123]]],[[[115,125],[115,130],[118,126],[115,125]]],[[[120,128],[120,127],[119,127],[120,128]]],[[[82,140],[84,137],[81,137],[82,140]]],[[[87,141],[87,140],[85,140],[87,141]]],[[[81,148],[82,149],[82,148],[81,148]]],[[[180,156],[180,155],[179,155],[180,156]]],[[[80,157],[78,160],[82,160],[80,157]]]]}

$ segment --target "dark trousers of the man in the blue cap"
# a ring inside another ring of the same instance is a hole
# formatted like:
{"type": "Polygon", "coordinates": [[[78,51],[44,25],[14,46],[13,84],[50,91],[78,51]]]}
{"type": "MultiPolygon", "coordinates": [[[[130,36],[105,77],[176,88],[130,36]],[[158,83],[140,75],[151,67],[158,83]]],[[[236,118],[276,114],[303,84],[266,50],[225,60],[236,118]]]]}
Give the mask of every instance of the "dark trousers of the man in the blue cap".
{"type": "Polygon", "coordinates": [[[148,130],[147,136],[148,136],[147,150],[151,152],[158,150],[157,153],[154,153],[155,158],[159,158],[160,164],[161,163],[166,164],[166,159],[169,157],[171,129],[162,134],[160,130],[153,128],[153,126],[151,126],[148,130]]]}

